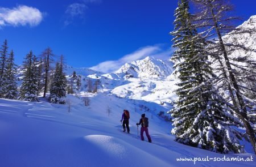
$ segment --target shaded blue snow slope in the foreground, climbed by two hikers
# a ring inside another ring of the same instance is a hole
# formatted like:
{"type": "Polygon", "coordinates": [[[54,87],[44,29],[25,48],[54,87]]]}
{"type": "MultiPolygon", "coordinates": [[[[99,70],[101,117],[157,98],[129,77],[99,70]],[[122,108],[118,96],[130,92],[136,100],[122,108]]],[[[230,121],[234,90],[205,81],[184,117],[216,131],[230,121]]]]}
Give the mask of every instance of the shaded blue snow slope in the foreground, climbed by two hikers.
{"type": "MultiPolygon", "coordinates": [[[[81,99],[73,96],[68,99],[70,113],[67,104],[0,99],[0,166],[256,165],[252,154],[221,155],[174,142],[170,123],[139,109],[141,101],[99,93],[91,97],[91,104],[86,107],[81,99]],[[121,131],[119,120],[124,108],[130,110],[131,134],[121,131]],[[153,143],[148,143],[147,138],[146,142],[138,139],[135,123],[145,112],[153,143]],[[202,161],[207,156],[209,161],[202,161]],[[231,157],[254,161],[221,160],[231,157]],[[197,161],[177,161],[180,158],[197,161]]],[[[161,109],[152,103],[144,105],[150,110],[156,106],[161,109]]]]}

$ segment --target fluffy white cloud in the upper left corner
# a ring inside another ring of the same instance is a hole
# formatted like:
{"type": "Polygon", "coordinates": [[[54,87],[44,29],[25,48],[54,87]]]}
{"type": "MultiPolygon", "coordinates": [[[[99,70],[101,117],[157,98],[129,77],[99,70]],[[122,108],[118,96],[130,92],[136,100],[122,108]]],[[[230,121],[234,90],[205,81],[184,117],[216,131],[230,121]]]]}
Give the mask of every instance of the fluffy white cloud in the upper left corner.
{"type": "Polygon", "coordinates": [[[0,26],[11,25],[18,27],[19,25],[30,25],[34,27],[43,20],[43,13],[37,8],[20,5],[14,8],[0,7],[0,26]]]}

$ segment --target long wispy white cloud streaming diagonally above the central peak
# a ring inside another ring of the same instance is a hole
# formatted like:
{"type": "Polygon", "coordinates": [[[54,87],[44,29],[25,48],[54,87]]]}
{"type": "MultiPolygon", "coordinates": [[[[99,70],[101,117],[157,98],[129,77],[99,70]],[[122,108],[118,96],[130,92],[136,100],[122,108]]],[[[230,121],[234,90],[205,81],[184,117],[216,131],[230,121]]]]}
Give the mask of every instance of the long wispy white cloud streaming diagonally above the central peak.
{"type": "Polygon", "coordinates": [[[146,46],[136,50],[131,54],[124,55],[122,58],[118,59],[117,61],[105,61],[90,68],[92,70],[101,71],[105,73],[114,72],[114,71],[117,71],[125,63],[137,61],[147,56],[154,56],[155,58],[161,58],[161,59],[170,59],[172,52],[173,52],[173,49],[164,50],[161,48],[161,45],[146,46]]]}

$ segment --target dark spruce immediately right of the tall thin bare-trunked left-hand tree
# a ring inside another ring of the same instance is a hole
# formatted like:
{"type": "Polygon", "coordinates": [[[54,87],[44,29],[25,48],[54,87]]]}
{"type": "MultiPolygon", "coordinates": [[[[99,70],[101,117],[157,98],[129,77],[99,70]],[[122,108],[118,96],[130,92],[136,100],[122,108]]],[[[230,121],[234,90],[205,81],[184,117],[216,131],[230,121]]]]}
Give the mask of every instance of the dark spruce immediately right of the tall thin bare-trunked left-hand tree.
{"type": "Polygon", "coordinates": [[[65,75],[63,74],[63,67],[59,63],[56,63],[49,100],[55,104],[65,104],[65,87],[66,80],[65,75]]]}

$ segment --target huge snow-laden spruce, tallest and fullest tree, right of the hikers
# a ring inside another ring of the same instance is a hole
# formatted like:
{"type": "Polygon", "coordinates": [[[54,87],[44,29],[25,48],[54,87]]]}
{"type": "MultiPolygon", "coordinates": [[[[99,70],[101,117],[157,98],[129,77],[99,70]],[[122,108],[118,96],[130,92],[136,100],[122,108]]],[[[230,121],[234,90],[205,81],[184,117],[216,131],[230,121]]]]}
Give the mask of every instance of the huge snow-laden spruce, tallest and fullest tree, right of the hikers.
{"type": "Polygon", "coordinates": [[[220,153],[241,153],[242,134],[232,126],[240,125],[232,109],[212,80],[216,77],[204,50],[205,41],[191,23],[188,0],[180,0],[175,10],[174,47],[172,60],[180,82],[179,99],[171,110],[174,117],[172,134],[176,141],[220,153]]]}

